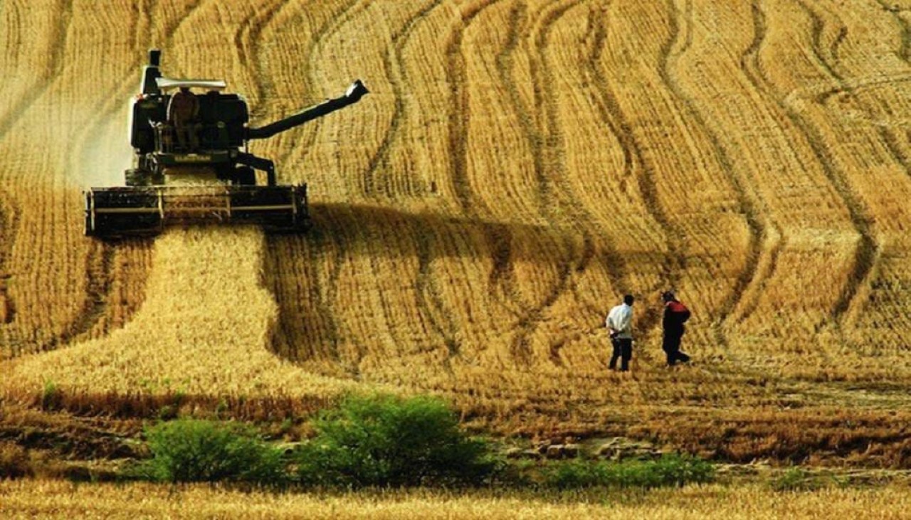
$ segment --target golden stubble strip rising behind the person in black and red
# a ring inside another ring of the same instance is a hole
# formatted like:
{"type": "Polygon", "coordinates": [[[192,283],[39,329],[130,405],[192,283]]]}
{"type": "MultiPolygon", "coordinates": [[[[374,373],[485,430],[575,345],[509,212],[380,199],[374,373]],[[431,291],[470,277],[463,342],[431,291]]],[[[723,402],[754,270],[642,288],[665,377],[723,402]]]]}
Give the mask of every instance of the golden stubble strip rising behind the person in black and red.
{"type": "Polygon", "coordinates": [[[691,341],[713,349],[709,325],[720,320],[727,291],[742,276],[756,239],[740,215],[744,195],[726,179],[726,158],[718,156],[665,72],[678,41],[675,15],[626,5],[610,9],[610,50],[601,63],[624,126],[638,143],[641,182],[650,192],[646,203],[669,240],[660,286],[650,288],[649,302],[655,305],[662,289],[677,290],[698,312],[691,341]],[[621,28],[627,20],[660,37],[633,36],[621,28]]]}

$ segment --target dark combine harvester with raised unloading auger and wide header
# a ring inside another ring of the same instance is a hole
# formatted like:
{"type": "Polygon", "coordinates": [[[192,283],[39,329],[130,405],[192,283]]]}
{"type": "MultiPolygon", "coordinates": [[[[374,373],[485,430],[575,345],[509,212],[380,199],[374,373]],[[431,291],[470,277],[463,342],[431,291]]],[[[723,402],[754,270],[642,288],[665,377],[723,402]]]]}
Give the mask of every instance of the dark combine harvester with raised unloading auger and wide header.
{"type": "Polygon", "coordinates": [[[275,134],[356,103],[367,93],[360,80],[342,97],[264,127],[249,127],[247,103],[224,94],[224,81],[161,76],[161,51],[148,53],[142,91],[130,109],[133,168],[125,186],[85,191],[86,235],[117,238],[155,235],[170,225],[205,222],[257,224],[270,231],[307,229],[306,185],[279,186],[275,165],[248,153],[251,139],[275,134]],[[190,89],[205,92],[195,95],[190,89]],[[176,94],[170,94],[178,90],[176,94]],[[176,115],[181,100],[181,122],[176,115]],[[262,174],[257,175],[257,170],[262,174]],[[264,178],[264,184],[258,182],[264,178]]]}

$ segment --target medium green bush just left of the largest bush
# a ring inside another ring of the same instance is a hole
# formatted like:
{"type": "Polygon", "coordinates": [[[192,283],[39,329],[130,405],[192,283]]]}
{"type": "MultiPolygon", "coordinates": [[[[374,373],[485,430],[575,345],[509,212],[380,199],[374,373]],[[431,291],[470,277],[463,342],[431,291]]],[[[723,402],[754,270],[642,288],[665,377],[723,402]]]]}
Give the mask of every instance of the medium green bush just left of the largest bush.
{"type": "Polygon", "coordinates": [[[233,423],[178,419],[146,430],[152,458],[134,475],[165,482],[281,484],[281,451],[233,423]]]}

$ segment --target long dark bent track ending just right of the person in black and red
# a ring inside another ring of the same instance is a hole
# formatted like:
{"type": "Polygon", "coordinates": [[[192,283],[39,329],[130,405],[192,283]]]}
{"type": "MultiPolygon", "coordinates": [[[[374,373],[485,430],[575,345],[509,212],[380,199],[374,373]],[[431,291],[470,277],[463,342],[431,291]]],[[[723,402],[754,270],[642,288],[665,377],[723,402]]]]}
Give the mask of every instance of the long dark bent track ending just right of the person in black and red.
{"type": "MultiPolygon", "coordinates": [[[[737,275],[732,290],[728,292],[722,301],[718,316],[712,324],[715,341],[726,352],[730,353],[728,339],[724,333],[724,323],[732,317],[740,305],[743,295],[749,293],[749,288],[752,285],[762,285],[764,277],[772,272],[771,270],[763,272],[759,270],[760,260],[763,258],[763,242],[768,237],[770,227],[775,229],[778,236],[781,236],[781,231],[778,229],[777,224],[768,221],[769,219],[763,215],[763,200],[747,188],[750,185],[750,179],[745,178],[733,166],[727,149],[722,145],[721,138],[709,126],[706,118],[702,116],[694,101],[684,92],[684,89],[672,73],[671,69],[675,68],[672,62],[675,62],[679,56],[683,56],[692,46],[692,0],[684,1],[685,6],[681,10],[674,0],[667,0],[671,13],[670,31],[672,36],[670,37],[670,42],[664,47],[665,52],[661,54],[658,72],[661,80],[680,102],[684,115],[695,123],[696,127],[700,128],[700,133],[706,137],[706,141],[710,144],[711,151],[718,160],[724,177],[737,195],[737,207],[746,221],[747,228],[750,230],[746,261],[737,275]]],[[[768,253],[774,258],[777,255],[777,249],[773,248],[768,253]]],[[[758,289],[756,292],[758,293],[758,289]]]]}

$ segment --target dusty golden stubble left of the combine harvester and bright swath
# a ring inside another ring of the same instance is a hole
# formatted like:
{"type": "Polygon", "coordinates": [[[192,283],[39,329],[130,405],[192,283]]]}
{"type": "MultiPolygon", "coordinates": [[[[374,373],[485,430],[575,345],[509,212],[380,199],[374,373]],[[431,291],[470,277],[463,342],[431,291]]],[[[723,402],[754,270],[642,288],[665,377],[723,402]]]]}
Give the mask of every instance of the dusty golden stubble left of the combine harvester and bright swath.
{"type": "Polygon", "coordinates": [[[0,112],[0,357],[104,333],[141,301],[148,247],[115,251],[84,240],[79,189],[117,182],[128,167],[124,100],[138,83],[138,49],[167,34],[185,8],[96,7],[48,1],[2,9],[3,34],[19,46],[3,62],[5,77],[15,79],[3,83],[10,107],[0,112]]]}

